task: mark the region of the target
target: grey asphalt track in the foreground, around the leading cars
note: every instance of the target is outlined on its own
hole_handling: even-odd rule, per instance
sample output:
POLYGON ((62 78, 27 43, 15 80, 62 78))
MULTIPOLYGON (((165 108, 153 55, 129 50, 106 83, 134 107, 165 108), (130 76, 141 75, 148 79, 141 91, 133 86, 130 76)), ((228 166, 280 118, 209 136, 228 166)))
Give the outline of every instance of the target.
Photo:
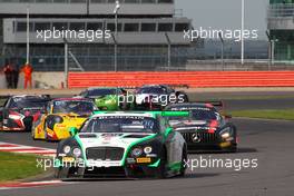
MULTIPOLYGON (((292 104, 293 106, 293 104, 292 104)), ((247 105, 247 108, 254 106, 247 105)), ((236 154, 194 154, 183 178, 143 180, 95 180, 56 186, 0 190, 0 196, 293 196, 294 194, 294 121, 233 119, 238 127, 239 150, 236 154), (206 167, 206 159, 257 159, 257 168, 206 167)), ((29 133, 1 133, 1 141, 55 148, 55 143, 32 141, 29 133)))

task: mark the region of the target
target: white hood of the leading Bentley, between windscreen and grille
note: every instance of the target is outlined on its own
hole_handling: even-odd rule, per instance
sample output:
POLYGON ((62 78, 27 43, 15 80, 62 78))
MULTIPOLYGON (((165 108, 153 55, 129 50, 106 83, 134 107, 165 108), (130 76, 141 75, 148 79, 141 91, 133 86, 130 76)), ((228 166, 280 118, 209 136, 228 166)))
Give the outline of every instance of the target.
POLYGON ((156 134, 78 134, 82 147, 120 147, 127 148, 141 139, 155 136, 156 134))

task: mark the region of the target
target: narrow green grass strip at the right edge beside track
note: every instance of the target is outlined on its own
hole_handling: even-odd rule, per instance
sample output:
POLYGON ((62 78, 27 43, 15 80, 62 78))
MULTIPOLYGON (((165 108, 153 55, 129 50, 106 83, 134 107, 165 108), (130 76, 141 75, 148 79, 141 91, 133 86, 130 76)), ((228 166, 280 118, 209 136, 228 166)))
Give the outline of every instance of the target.
POLYGON ((294 109, 239 110, 231 114, 233 117, 294 120, 294 109))

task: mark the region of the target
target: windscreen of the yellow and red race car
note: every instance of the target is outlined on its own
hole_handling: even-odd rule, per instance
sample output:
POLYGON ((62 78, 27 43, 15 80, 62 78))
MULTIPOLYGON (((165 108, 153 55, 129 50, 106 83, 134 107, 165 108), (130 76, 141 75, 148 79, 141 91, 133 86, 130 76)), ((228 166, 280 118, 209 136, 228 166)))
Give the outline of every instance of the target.
POLYGON ((95 106, 91 101, 85 100, 57 100, 53 101, 53 114, 78 114, 90 115, 95 110, 95 106))

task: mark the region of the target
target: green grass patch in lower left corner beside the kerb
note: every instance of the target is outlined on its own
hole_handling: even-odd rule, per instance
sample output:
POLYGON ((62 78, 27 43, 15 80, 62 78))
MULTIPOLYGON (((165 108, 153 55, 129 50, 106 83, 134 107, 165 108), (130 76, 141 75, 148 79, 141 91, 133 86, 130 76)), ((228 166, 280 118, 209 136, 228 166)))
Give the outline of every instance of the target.
POLYGON ((42 168, 37 168, 37 156, 0 151, 0 182, 23 179, 42 173, 42 168))

